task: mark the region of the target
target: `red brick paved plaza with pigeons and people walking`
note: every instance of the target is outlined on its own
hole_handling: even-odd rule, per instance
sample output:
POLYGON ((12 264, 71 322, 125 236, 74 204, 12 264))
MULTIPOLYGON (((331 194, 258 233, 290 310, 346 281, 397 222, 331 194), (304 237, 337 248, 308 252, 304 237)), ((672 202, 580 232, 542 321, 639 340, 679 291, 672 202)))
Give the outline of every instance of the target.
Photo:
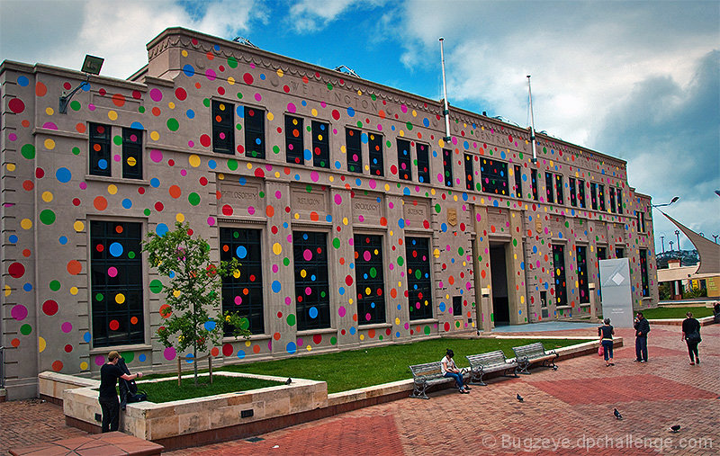
MULTIPOLYGON (((633 331, 617 333, 626 346, 616 350, 614 367, 582 356, 560 362, 558 371, 490 380, 469 395, 446 389, 429 400, 397 400, 262 434, 257 442, 166 454, 717 454, 720 325, 702 328, 695 366, 679 326, 653 326, 647 363, 634 362, 633 331)), ((542 333, 551 334, 594 336, 595 329, 542 333)), ((37 401, 0 404, 0 429, 4 449, 85 434, 64 425, 61 407, 37 401)))

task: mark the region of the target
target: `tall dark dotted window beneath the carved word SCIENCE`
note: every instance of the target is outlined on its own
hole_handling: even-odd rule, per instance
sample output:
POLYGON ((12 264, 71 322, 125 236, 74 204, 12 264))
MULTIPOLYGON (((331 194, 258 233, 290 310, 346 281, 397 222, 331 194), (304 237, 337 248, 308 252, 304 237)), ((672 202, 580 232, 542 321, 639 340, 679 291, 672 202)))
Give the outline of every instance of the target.
POLYGON ((406 237, 408 257, 408 304, 410 319, 433 317, 432 284, 430 282, 430 251, 428 237, 406 237))

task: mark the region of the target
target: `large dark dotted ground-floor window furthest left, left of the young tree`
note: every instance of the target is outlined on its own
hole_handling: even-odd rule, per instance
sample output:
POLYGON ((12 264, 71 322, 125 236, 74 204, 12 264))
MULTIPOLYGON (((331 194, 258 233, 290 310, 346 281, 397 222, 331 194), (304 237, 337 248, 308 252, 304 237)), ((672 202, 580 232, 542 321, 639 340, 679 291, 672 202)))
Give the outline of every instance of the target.
POLYGON ((141 225, 90 222, 93 345, 145 342, 141 225))

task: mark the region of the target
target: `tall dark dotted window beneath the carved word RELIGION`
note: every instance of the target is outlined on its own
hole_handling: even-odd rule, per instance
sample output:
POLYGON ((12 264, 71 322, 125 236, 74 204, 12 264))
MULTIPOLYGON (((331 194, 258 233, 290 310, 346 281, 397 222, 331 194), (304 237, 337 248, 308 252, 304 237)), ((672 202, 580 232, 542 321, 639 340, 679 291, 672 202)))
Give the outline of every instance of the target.
POLYGON ((293 231, 298 331, 330 327, 328 235, 293 231))

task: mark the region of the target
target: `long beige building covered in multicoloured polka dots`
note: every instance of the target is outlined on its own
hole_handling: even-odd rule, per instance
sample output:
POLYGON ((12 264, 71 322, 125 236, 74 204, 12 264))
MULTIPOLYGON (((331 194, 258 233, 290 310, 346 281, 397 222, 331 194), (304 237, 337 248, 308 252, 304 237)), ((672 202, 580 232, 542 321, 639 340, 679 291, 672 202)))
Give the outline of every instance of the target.
POLYGON ((184 29, 128 80, 5 61, 2 339, 8 398, 110 350, 170 371, 163 277, 140 242, 187 222, 238 257, 216 363, 489 331, 599 309, 598 260, 657 302, 650 198, 626 162, 184 29), (595 296, 591 296, 595 293, 595 296), (591 298, 594 298, 591 300, 591 298))

